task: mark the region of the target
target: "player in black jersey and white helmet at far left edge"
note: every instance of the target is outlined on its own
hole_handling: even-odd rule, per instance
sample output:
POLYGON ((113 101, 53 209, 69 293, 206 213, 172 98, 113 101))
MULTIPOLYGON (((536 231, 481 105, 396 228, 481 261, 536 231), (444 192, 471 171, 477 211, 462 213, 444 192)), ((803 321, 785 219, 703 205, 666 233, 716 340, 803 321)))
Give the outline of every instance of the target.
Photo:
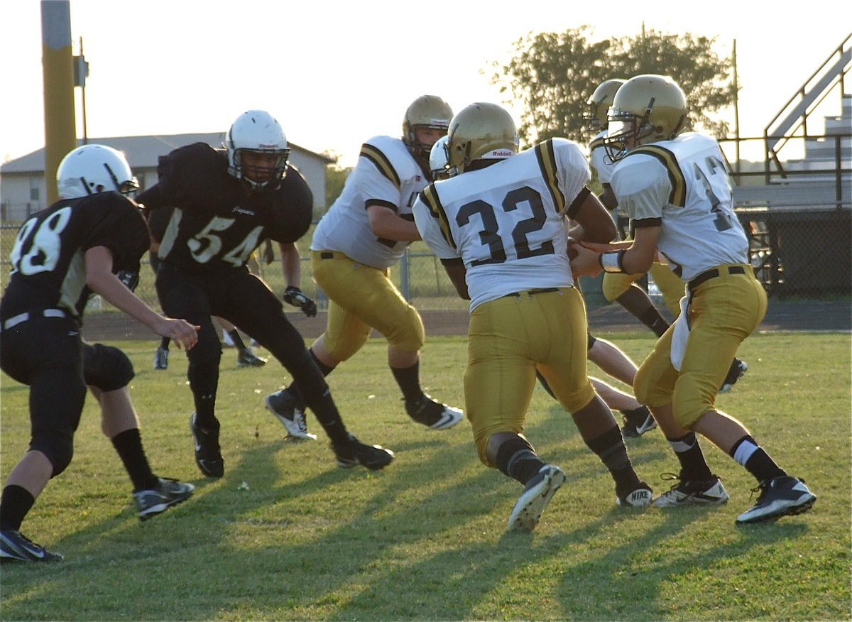
POLYGON ((0 301, 0 367, 30 385, 29 451, 15 465, 0 498, 0 559, 53 562, 62 556, 33 543, 20 524, 50 478, 72 459, 86 385, 101 405, 110 437, 134 484, 142 520, 189 498, 192 484, 153 475, 130 402, 133 366, 118 348, 80 339, 92 292, 178 345, 192 348, 193 325, 156 314, 118 279, 138 274, 148 233, 121 153, 101 145, 74 149, 57 170, 60 200, 34 214, 18 233, 9 286, 0 301))

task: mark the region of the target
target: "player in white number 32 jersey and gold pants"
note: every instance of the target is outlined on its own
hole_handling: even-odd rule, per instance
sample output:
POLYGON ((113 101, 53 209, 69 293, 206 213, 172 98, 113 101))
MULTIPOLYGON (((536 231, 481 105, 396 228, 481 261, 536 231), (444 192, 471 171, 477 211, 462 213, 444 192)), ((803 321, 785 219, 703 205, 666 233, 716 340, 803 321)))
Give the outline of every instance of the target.
POLYGON ((452 118, 447 149, 451 177, 426 187, 413 211, 423 241, 470 300, 465 408, 481 461, 524 487, 509 529, 533 530, 565 479, 522 435, 537 368, 613 475, 617 503, 648 505, 651 490, 586 374, 585 309, 563 218, 599 241, 613 239, 615 225, 585 187, 583 153, 565 139, 517 153, 515 122, 489 103, 452 118))

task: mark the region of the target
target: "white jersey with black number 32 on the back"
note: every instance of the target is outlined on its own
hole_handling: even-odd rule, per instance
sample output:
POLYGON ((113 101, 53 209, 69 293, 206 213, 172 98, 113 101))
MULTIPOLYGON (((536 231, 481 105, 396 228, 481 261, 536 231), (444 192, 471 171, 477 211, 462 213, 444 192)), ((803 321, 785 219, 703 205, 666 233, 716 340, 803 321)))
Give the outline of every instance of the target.
POLYGON ((435 255, 462 259, 471 309, 515 291, 568 287, 562 216, 589 177, 576 143, 544 141, 427 187, 415 222, 435 255))

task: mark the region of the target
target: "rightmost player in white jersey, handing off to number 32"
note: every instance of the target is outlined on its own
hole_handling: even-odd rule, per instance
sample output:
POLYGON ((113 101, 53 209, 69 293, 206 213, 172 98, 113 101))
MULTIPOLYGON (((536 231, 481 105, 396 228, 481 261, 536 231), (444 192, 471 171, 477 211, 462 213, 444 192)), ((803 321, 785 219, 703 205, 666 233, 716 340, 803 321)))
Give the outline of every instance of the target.
POLYGON ((763 320, 767 297, 734 215, 722 151, 710 136, 682 133, 687 112, 682 89, 669 77, 636 76, 616 93, 604 140, 618 163, 613 191, 635 223, 634 239, 602 254, 580 250, 577 265, 597 261, 609 273, 636 274, 659 256, 687 282, 681 314, 634 383, 681 462, 679 483, 654 505, 728 499, 700 455, 697 432, 759 482, 757 504, 737 522, 775 520, 809 510, 816 497, 715 405, 728 361, 763 320))

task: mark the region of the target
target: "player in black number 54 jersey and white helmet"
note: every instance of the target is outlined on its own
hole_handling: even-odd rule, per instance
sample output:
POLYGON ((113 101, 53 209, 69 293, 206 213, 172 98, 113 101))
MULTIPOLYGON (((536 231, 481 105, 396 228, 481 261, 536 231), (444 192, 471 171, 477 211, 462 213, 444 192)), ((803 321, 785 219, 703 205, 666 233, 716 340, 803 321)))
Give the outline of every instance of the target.
POLYGON ((174 209, 158 252, 160 304, 166 313, 201 327, 187 369, 195 404, 190 418, 195 462, 204 475, 224 474, 215 414, 222 344, 210 320, 216 315, 267 348, 291 373, 331 438, 338 465, 382 469, 393 452, 348 433, 302 335, 286 319, 279 299, 246 267, 264 239, 278 242, 290 256, 296 253, 285 299, 306 314, 314 312, 314 302, 297 287, 295 244, 310 226, 313 196, 304 177, 287 164, 284 130, 268 112, 250 110, 234 121, 225 147, 199 142, 172 151, 159 160, 157 185, 139 197, 147 210, 174 209))

